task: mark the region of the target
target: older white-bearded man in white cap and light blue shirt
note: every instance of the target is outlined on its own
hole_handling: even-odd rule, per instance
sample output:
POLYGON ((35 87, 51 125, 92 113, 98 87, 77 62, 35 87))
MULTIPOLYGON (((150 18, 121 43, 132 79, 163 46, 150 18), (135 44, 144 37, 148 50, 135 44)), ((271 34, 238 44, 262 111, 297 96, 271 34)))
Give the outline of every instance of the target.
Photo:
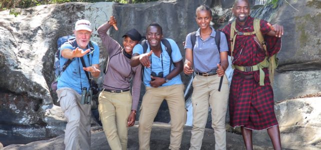
POLYGON ((56 92, 67 119, 65 149, 89 149, 91 105, 81 104, 80 99, 82 90, 90 87, 85 71, 93 77, 99 76, 99 47, 90 41, 92 29, 88 20, 78 20, 73 33, 75 39, 63 43, 60 48, 60 64, 65 64, 68 59, 71 63, 61 73, 56 92))

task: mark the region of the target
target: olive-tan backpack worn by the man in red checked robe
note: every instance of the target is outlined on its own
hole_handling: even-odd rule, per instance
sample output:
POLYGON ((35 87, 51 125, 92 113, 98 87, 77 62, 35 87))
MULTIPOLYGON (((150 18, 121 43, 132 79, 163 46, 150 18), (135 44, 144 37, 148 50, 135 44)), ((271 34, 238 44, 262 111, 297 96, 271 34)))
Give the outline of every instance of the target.
MULTIPOLYGON (((235 20, 231 23, 230 26, 230 46, 231 46, 231 56, 233 54, 233 50, 234 50, 234 43, 235 43, 235 38, 236 35, 252 35, 255 34, 255 36, 257 37, 258 41, 260 42, 260 44, 262 45, 263 49, 265 50, 265 59, 262 62, 259 62, 256 65, 253 65, 252 67, 254 68, 257 67, 257 69, 259 70, 259 85, 264 85, 264 71, 262 70, 263 67, 268 67, 268 73, 269 73, 269 80, 270 80, 270 84, 271 86, 273 86, 273 79, 274 79, 274 69, 277 67, 278 65, 278 58, 276 57, 277 53, 272 55, 272 56, 268 56, 267 55, 267 51, 266 51, 266 42, 264 41, 263 35, 260 31, 260 19, 254 18, 253 21, 253 27, 254 27, 254 31, 252 32, 239 32, 236 28, 235 28, 235 20), (236 32, 236 34, 234 35, 234 32, 236 32)), ((234 69, 235 66, 232 64, 232 68, 234 69)))

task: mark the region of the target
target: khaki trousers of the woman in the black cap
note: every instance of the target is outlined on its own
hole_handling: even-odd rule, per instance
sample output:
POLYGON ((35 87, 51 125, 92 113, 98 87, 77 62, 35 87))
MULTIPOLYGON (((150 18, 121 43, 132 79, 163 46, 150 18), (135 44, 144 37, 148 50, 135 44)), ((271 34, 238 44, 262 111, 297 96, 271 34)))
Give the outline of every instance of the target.
POLYGON ((131 111, 130 91, 114 93, 101 91, 98 111, 111 149, 127 149, 127 119, 131 111))

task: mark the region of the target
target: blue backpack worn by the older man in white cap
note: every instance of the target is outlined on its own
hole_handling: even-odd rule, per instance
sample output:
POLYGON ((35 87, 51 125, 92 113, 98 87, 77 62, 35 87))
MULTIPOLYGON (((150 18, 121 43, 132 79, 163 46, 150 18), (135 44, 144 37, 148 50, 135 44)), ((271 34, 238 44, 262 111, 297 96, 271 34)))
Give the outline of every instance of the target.
MULTIPOLYGON (((59 77, 60 77, 61 73, 67 68, 67 66, 72 61, 71 59, 68 59, 66 62, 64 62, 64 64, 62 66, 60 65, 60 61, 59 60, 60 60, 60 48, 61 48, 61 45, 63 43, 65 43, 65 42, 69 42, 72 45, 72 47, 75 47, 76 45, 74 44, 74 42, 72 42, 72 41, 74 41, 74 39, 75 39, 75 36, 73 36, 73 35, 66 35, 66 36, 63 36, 63 37, 59 37, 57 39, 57 51, 54 53, 54 63, 53 63, 55 79, 51 83, 51 88, 52 88, 53 91, 55 91, 57 89, 57 83, 58 83, 58 80, 59 80, 59 77)), ((88 44, 89 44, 89 48, 92 51, 94 48, 93 48, 93 45, 92 45, 91 41, 89 41, 88 44)), ((91 54, 91 56, 92 56, 92 54, 91 54)), ((89 82, 92 82, 92 81, 89 80, 89 82)))

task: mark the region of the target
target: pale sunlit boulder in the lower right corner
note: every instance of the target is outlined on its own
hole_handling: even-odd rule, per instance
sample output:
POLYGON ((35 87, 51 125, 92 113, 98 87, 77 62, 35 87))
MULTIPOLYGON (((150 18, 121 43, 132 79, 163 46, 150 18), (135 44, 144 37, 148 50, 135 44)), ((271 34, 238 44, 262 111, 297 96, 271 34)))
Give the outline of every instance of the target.
MULTIPOLYGON (((287 99, 275 104, 283 147, 321 149, 320 105, 321 97, 287 99)), ((253 132, 253 137, 270 142, 266 130, 253 132)))

